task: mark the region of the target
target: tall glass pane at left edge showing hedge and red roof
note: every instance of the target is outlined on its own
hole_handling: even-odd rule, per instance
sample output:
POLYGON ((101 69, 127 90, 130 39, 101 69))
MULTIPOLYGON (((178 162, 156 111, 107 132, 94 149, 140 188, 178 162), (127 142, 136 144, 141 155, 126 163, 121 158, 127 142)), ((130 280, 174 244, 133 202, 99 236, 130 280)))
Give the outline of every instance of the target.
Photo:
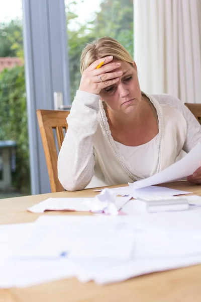
POLYGON ((0 198, 30 194, 22 0, 0 0, 0 198))

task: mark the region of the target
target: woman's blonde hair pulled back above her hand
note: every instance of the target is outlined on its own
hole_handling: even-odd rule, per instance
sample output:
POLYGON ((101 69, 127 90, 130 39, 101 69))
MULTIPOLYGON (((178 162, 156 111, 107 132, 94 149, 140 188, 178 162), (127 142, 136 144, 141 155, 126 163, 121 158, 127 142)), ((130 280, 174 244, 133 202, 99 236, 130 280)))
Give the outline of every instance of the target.
POLYGON ((86 45, 80 57, 80 72, 97 59, 113 55, 114 60, 125 61, 133 65, 129 52, 115 39, 103 37, 86 45))

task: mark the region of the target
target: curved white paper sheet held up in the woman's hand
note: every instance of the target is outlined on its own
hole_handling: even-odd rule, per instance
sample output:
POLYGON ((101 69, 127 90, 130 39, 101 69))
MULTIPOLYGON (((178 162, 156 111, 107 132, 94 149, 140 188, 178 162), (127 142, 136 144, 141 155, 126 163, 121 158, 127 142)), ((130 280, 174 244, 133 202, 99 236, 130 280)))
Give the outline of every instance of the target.
POLYGON ((147 186, 157 185, 165 182, 182 179, 201 166, 201 144, 200 142, 180 161, 166 168, 165 170, 150 176, 146 179, 129 183, 133 189, 140 189, 147 186))

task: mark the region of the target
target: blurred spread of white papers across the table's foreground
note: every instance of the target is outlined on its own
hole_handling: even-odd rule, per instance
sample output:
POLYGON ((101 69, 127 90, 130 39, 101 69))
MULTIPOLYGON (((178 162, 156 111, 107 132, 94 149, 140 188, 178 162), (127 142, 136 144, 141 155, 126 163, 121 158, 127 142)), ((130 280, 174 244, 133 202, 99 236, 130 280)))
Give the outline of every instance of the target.
MULTIPOLYGON (((138 200, 123 210, 131 202, 138 200)), ((195 206, 154 214, 136 207, 127 216, 41 216, 19 228, 0 226, 0 287, 68 277, 107 284, 201 263, 200 215, 195 206)))

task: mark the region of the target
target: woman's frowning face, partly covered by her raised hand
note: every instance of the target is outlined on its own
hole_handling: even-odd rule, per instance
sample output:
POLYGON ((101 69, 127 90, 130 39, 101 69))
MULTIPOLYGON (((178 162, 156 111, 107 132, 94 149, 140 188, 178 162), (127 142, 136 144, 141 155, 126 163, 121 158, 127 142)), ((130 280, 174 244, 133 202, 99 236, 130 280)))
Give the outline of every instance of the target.
POLYGON ((138 109, 141 101, 141 90, 135 62, 133 66, 120 61, 121 66, 115 71, 123 71, 120 80, 112 86, 102 89, 100 98, 115 113, 131 113, 138 109))

